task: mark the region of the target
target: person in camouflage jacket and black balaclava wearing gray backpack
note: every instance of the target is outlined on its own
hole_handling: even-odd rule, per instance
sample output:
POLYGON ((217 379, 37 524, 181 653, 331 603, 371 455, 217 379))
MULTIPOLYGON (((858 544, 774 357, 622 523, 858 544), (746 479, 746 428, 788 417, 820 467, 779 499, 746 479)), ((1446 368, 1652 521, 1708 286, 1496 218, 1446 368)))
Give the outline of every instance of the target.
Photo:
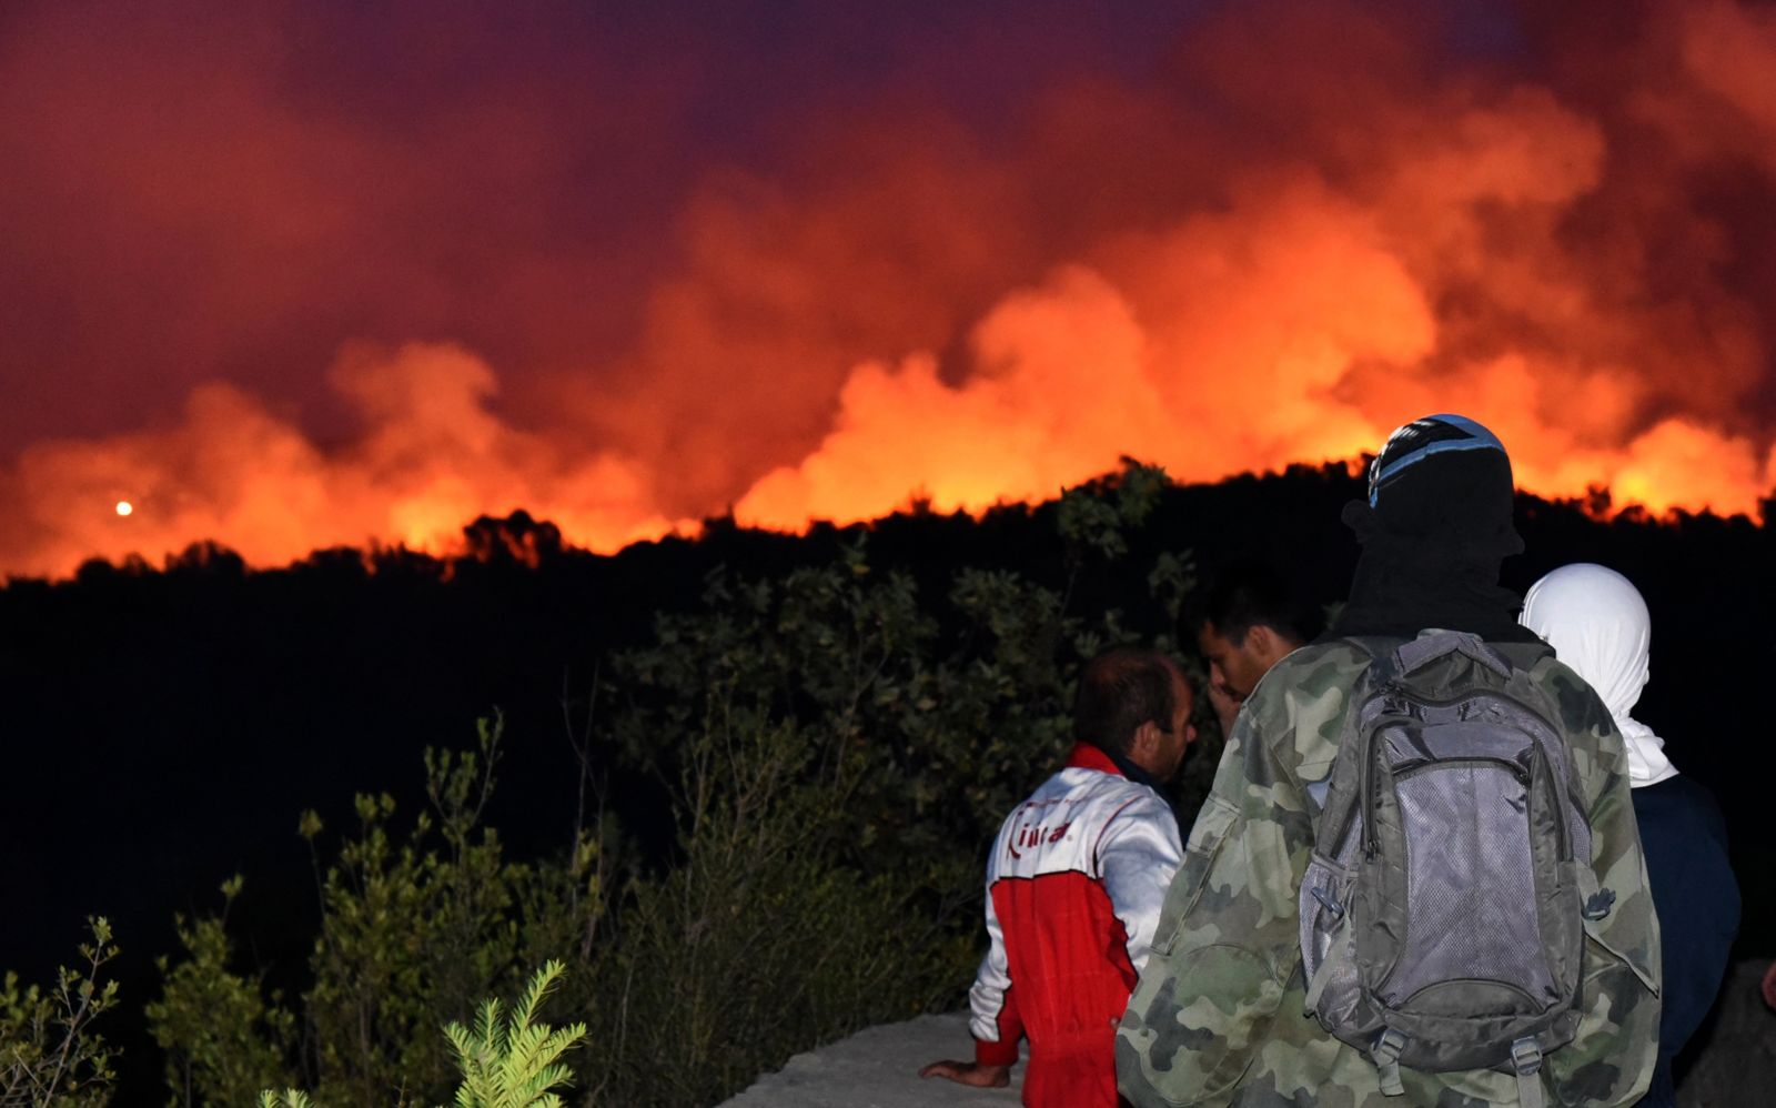
POLYGON ((1117 1030, 1140 1106, 1634 1103, 1659 927, 1609 708, 1517 623, 1511 465, 1394 431, 1330 634, 1240 710, 1117 1030))

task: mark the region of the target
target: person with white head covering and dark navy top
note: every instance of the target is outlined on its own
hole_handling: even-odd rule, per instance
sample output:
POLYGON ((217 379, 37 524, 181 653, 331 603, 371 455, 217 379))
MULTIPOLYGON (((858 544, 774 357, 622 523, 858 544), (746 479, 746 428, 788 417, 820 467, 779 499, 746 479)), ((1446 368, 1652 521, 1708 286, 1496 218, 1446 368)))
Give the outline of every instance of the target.
POLYGON ((1659 1067, 1641 1104, 1675 1108, 1671 1060, 1714 1007, 1739 930, 1726 820, 1714 794, 1680 776, 1664 740, 1632 716, 1650 675, 1652 618, 1627 577, 1591 563, 1561 566, 1524 597, 1522 623, 1597 689, 1627 744, 1664 962, 1659 1067))

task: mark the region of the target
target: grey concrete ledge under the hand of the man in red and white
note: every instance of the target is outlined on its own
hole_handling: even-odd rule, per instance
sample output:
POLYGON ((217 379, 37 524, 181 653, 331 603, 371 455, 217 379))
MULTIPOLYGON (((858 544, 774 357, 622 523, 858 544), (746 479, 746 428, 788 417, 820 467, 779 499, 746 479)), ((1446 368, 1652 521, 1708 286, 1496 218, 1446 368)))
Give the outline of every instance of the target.
POLYGON ((1007 1088, 970 1088, 955 1081, 920 1080, 918 1069, 938 1058, 973 1058, 968 1017, 920 1016, 858 1032, 765 1074, 721 1108, 1018 1108, 1023 1064, 1007 1088))

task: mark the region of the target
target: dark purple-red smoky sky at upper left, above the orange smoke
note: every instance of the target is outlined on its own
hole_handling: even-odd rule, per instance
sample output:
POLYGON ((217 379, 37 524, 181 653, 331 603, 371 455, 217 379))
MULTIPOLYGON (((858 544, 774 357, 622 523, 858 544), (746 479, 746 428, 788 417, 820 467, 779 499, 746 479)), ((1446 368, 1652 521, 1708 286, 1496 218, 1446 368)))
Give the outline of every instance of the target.
MULTIPOLYGON (((156 4, 0 11, 0 453, 226 378, 325 435, 348 339, 455 339, 522 385, 634 339, 693 192, 810 135, 982 140, 1140 76, 1176 4, 156 4)), ((517 389, 522 394, 522 387, 517 389)))

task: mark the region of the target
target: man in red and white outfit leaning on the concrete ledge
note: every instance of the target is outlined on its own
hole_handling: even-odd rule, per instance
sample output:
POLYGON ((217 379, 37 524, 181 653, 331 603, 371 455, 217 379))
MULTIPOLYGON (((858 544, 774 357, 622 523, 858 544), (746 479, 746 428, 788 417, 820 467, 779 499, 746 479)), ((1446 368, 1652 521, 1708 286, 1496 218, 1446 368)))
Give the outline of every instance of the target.
POLYGON ((1005 817, 987 859, 975 1060, 920 1076, 1005 1085, 1023 1037, 1025 1104, 1115 1108, 1115 1025, 1183 854, 1158 787, 1195 739, 1190 708, 1163 653, 1117 648, 1087 664, 1066 767, 1005 817))

